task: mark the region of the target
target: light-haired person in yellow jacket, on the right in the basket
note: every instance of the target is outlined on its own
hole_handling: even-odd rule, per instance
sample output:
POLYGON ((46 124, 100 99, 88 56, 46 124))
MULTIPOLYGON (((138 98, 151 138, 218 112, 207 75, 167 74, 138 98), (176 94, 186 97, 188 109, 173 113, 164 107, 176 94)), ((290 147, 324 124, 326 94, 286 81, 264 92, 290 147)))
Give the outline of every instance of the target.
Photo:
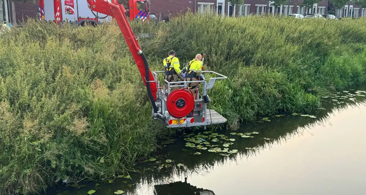
MULTIPOLYGON (((202 56, 197 54, 196 57, 188 63, 187 73, 184 75, 185 81, 198 81, 202 77, 202 56)), ((197 99, 198 83, 189 83, 188 87, 194 92, 194 99, 197 99)))

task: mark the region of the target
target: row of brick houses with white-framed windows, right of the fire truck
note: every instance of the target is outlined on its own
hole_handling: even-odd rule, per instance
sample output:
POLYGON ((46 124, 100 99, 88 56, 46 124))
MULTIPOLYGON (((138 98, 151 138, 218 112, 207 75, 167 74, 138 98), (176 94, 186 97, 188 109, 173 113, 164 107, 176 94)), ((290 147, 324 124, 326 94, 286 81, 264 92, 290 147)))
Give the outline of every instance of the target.
MULTIPOLYGON (((207 9, 211 9, 216 12, 217 15, 226 16, 247 16, 249 14, 262 15, 262 14, 325 14, 327 1, 323 0, 313 5, 312 8, 305 9, 300 7, 299 4, 303 0, 291 0, 289 4, 283 4, 279 7, 274 7, 272 1, 266 0, 244 0, 243 5, 231 5, 227 0, 150 0, 151 10, 150 12, 156 14, 161 19, 168 19, 168 15, 177 15, 181 11, 184 13, 189 9, 195 12, 203 12, 207 9), (289 10, 290 9, 290 10, 289 10)), ((328 1, 328 8, 331 6, 328 1)), ((366 16, 365 8, 361 8, 359 5, 351 2, 350 9, 348 10, 348 4, 343 8, 336 9, 336 16, 359 18, 366 16)))

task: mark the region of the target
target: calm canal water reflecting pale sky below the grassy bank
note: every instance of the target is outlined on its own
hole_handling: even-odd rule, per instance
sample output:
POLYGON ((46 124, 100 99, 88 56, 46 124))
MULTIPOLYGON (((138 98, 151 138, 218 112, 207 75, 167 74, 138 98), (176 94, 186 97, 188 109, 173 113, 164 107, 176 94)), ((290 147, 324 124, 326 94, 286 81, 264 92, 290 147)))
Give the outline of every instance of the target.
POLYGON ((325 110, 313 114, 317 118, 270 117, 270 122, 246 125, 234 131, 258 132, 252 134, 253 138, 231 135, 226 130, 214 132, 234 138, 235 141, 225 141, 218 137, 220 141, 234 143, 229 147, 204 138, 211 145, 219 145, 213 148, 238 150, 229 156, 186 147, 187 141, 180 135, 156 157, 160 164, 171 167, 158 169, 160 164, 155 161, 143 162, 138 166, 145 169, 144 173, 130 173, 132 179, 119 178, 110 184, 99 183, 99 186, 84 183, 86 186, 80 189, 61 185, 50 188, 46 194, 87 194, 89 190, 96 190, 94 195, 114 194, 117 190, 127 195, 154 195, 154 190, 159 191, 156 195, 194 195, 195 190, 210 190, 212 192, 207 194, 215 195, 365 194, 366 103, 363 95, 366 92, 352 90, 349 93, 355 96, 339 99, 349 95, 342 92, 325 98, 325 110), (191 154, 194 152, 201 154, 191 154), (174 162, 166 163, 167 159, 174 162), (178 163, 184 166, 178 168, 178 163))

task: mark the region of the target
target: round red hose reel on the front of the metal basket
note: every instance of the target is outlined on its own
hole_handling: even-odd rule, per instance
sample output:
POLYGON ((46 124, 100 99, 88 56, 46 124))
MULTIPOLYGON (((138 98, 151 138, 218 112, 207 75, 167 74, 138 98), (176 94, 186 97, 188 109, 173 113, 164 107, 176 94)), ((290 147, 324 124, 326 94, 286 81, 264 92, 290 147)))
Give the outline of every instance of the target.
POLYGON ((174 118, 183 118, 194 108, 193 92, 188 88, 175 89, 167 98, 167 110, 174 118))

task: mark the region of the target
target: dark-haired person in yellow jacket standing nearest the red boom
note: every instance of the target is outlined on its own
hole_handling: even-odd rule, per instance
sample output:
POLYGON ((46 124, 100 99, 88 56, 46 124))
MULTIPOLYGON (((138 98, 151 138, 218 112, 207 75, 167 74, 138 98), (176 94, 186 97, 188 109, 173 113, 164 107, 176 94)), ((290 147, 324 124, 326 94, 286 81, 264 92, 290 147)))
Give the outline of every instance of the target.
MULTIPOLYGON (((169 56, 167 58, 164 58, 163 64, 165 67, 165 80, 168 82, 176 82, 178 81, 178 74, 182 72, 179 68, 179 60, 177 57, 175 57, 175 51, 171 50, 169 51, 169 56)), ((171 85, 177 85, 177 84, 171 84, 171 85)), ((164 82, 164 88, 165 90, 168 90, 168 84, 164 82)), ((178 87, 172 87, 172 89, 178 89, 178 87)))

